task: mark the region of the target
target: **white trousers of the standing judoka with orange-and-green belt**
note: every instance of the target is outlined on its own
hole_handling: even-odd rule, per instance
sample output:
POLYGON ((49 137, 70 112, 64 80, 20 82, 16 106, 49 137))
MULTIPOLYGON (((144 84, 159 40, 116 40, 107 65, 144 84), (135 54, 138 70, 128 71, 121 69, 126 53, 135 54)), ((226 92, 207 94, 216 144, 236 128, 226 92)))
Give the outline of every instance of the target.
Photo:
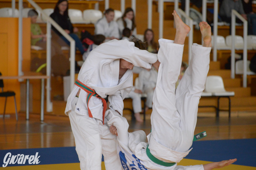
POLYGON ((80 168, 100 170, 101 158, 104 156, 106 170, 121 170, 122 165, 116 151, 116 135, 103 125, 101 120, 77 114, 74 110, 78 98, 71 102, 68 112, 80 168))

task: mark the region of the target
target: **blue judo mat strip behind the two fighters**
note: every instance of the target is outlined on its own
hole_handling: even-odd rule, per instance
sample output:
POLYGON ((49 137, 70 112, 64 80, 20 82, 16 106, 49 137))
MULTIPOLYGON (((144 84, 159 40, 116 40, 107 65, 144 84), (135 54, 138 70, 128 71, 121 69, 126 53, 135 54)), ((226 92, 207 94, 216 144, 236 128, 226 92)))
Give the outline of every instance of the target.
MULTIPOLYGON (((256 167, 256 139, 195 141, 192 147, 193 149, 185 157, 186 159, 218 162, 237 158, 234 164, 256 167)), ((1 165, 4 164, 4 158, 7 153, 11 153, 11 155, 36 155, 36 152, 40 156, 38 157, 40 161, 38 165, 79 162, 75 147, 59 147, 0 150, 1 165)), ((8 157, 9 154, 5 161, 7 161, 8 157)), ((103 157, 102 161, 104 161, 103 157)), ((24 165, 29 165, 28 160, 25 164, 18 164, 17 162, 8 164, 8 166, 24 165)))

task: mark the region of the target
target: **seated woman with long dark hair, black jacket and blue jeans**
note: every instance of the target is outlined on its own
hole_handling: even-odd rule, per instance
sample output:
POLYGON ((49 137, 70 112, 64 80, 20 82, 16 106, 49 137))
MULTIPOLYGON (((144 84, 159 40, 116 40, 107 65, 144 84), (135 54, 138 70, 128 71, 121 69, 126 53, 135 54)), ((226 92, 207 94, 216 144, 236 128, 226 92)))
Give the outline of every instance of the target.
MULTIPOLYGON (((68 1, 67 0, 59 0, 54 8, 54 12, 50 15, 50 17, 57 22, 57 24, 70 35, 75 40, 76 47, 80 51, 80 53, 83 55, 83 53, 86 51, 85 48, 82 45, 82 42, 78 38, 78 36, 75 34, 78 32, 78 28, 73 27, 69 16, 68 16, 68 1)), ((52 26, 52 30, 56 32, 61 39, 63 39, 68 45, 70 45, 70 42, 56 29, 52 26)))

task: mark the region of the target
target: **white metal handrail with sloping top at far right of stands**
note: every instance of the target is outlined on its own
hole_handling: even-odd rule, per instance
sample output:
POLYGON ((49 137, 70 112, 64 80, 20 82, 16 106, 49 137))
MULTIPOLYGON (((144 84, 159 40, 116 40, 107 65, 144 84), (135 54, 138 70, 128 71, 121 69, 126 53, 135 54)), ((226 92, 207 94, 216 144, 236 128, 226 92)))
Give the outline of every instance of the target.
POLYGON ((243 87, 247 87, 247 20, 244 19, 236 10, 231 13, 231 78, 235 78, 235 35, 236 35, 236 17, 243 22, 243 87))

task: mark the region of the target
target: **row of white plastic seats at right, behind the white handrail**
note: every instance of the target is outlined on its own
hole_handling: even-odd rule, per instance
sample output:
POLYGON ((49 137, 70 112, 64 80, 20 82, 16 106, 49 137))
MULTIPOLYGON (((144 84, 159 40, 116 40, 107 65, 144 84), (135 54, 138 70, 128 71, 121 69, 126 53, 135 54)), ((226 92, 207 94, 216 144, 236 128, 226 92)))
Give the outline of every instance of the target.
MULTIPOLYGON (((214 36, 211 36, 212 47, 214 45, 214 36)), ((243 50, 244 40, 240 35, 235 35, 235 49, 243 50)), ((217 50, 231 50, 232 47, 232 35, 228 35, 226 39, 217 35, 217 50)), ((256 35, 248 35, 247 36, 247 49, 248 50, 256 50, 256 35)))

